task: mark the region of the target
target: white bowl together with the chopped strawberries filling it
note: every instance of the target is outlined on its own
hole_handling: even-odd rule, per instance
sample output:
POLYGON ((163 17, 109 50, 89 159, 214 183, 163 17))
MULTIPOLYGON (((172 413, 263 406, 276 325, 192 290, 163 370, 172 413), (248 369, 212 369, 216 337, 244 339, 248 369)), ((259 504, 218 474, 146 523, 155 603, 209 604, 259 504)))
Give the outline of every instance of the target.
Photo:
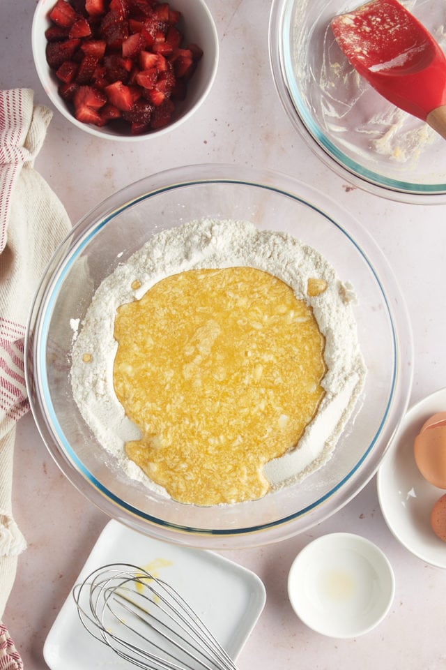
POLYGON ((203 0, 40 0, 32 48, 63 116, 127 142, 189 119, 212 87, 219 54, 203 0))

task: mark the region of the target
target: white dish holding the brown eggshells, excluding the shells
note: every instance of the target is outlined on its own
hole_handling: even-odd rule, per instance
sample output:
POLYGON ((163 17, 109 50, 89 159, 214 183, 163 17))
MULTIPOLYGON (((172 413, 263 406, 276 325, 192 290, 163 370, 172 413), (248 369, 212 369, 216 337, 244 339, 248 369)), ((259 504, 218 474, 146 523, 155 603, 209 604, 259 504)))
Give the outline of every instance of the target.
POLYGON ((431 509, 443 489, 426 482, 413 455, 413 442, 426 419, 446 410, 446 389, 413 405, 390 442, 378 470, 378 499, 387 526, 403 546, 430 565, 446 568, 446 543, 431 529, 431 509))

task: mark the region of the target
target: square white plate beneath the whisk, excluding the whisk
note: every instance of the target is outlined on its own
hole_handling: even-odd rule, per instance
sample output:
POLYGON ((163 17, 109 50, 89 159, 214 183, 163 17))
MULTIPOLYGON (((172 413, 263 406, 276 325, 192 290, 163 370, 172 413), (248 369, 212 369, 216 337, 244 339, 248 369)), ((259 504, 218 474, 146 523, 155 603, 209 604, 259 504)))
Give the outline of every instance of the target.
MULTIPOLYGON (((174 586, 236 659, 265 605, 265 587, 254 572, 210 551, 160 542, 109 521, 76 583, 95 568, 121 562, 145 567, 174 586)), ((71 593, 49 631, 43 655, 51 670, 134 669, 85 630, 71 593)))

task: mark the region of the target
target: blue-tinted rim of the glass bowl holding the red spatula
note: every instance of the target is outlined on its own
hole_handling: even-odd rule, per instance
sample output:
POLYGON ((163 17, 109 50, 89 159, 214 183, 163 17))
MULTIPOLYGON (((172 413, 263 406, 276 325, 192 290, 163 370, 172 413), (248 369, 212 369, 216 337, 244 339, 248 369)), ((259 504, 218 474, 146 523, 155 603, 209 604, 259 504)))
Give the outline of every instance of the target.
MULTIPOLYGON (((390 177, 382 177, 380 174, 373 172, 373 170, 367 170, 367 168, 364 168, 360 163, 348 158, 346 154, 324 135, 321 128, 314 122, 312 115, 309 114, 295 81, 291 50, 289 48, 291 46, 289 43, 289 36, 291 34, 293 6, 294 1, 273 0, 270 15, 270 59, 279 97, 281 98, 282 104, 284 105, 286 112, 289 114, 291 121, 297 126, 300 133, 302 134, 302 130, 305 130, 305 138, 308 139, 308 137, 311 137, 312 140, 318 144, 318 147, 322 149, 325 156, 336 163, 338 171, 346 170, 352 177, 356 179, 359 178, 358 181, 366 181, 370 186, 378 187, 379 191, 381 191, 380 195, 383 195, 382 189, 385 189, 386 191, 393 191, 395 194, 394 197, 397 197, 397 194, 400 194, 401 197, 413 196, 414 198, 420 195, 445 196, 446 183, 416 184, 411 181, 399 181, 398 179, 391 179, 390 177), (275 13, 277 13, 276 17, 274 17, 275 13), (277 56, 279 58, 278 64, 276 62, 277 56), (283 77, 282 84, 286 89, 286 100, 284 100, 284 96, 281 95, 281 91, 279 90, 280 82, 277 81, 277 77, 279 76, 277 68, 280 71, 280 75, 283 77), (298 114, 300 123, 303 126, 302 128, 300 124, 296 123, 297 119, 295 118, 295 114, 298 114)), ((312 149, 314 149, 313 146, 312 149)))

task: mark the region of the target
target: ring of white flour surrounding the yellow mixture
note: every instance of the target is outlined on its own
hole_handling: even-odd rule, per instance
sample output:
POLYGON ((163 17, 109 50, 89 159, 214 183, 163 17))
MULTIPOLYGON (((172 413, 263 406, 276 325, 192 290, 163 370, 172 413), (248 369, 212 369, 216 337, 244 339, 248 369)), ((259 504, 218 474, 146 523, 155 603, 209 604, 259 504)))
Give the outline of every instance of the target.
POLYGON ((267 463, 272 489, 303 479, 330 459, 360 396, 366 368, 353 315, 355 296, 314 248, 289 234, 259 231, 245 221, 192 221, 166 230, 116 267, 93 296, 72 347, 72 393, 95 438, 132 478, 167 496, 125 455, 125 442, 141 438, 125 416, 113 386, 118 306, 140 299, 161 279, 199 268, 248 266, 276 276, 309 304, 325 337, 325 395, 298 445, 267 463), (307 295, 309 278, 323 279, 320 295, 307 295), (132 288, 132 285, 134 288, 132 288), (85 355, 91 357, 88 364, 85 355))

